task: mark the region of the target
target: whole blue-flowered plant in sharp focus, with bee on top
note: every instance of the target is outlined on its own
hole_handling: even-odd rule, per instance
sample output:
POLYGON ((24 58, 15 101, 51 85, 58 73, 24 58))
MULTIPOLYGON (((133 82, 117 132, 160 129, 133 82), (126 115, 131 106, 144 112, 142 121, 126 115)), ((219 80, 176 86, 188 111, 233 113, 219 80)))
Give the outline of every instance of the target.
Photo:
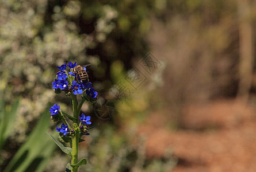
POLYGON ((77 62, 74 64, 68 62, 68 65, 65 63, 58 67, 58 69, 60 71, 57 72, 56 79, 52 82, 52 88, 55 93, 64 92, 67 97, 71 97, 73 116, 60 110, 58 104, 54 104, 49 109, 49 112, 51 112, 51 119, 54 122, 62 120, 62 125, 56 127, 56 131, 59 132, 59 140, 70 143, 70 147, 64 146, 59 140, 55 139, 54 136, 49 136, 51 136, 64 153, 71 156, 71 164, 68 163, 66 168, 67 170, 75 172, 78 170, 79 166, 86 164, 85 158, 78 162, 78 143, 84 141, 81 139, 83 135, 89 135, 89 130, 97 126, 89 127, 91 124, 90 116, 85 116, 85 114, 79 116, 81 107, 85 101, 95 103, 98 93, 94 90, 89 81, 86 68, 77 65, 77 62), (69 71, 67 67, 70 69, 69 71), (79 104, 77 95, 82 95, 82 100, 79 104), (66 118, 72 121, 72 126, 70 126, 66 118))

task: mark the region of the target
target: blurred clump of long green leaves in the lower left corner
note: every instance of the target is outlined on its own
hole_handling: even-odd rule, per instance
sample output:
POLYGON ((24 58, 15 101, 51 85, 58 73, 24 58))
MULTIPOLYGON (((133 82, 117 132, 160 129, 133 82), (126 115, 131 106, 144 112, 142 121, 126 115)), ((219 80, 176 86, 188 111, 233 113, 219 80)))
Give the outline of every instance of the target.
MULTIPOLYGON (((28 139, 17 152, 9 148, 9 136, 13 132, 13 124, 17 117, 19 100, 12 105, 0 102, 0 149, 1 149, 1 171, 44 171, 49 159, 54 153, 56 145, 47 138, 46 131, 49 130, 48 107, 41 114, 41 118, 28 139), (12 157, 13 156, 13 157, 12 157), (10 159, 11 158, 11 159, 10 159)), ((56 135, 56 134, 55 134, 56 135)))

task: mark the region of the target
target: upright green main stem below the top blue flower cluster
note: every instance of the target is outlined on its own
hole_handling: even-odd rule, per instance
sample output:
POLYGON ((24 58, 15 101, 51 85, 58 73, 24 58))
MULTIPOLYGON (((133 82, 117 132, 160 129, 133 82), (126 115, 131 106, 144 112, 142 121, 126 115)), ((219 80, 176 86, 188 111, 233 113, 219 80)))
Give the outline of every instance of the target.
MULTIPOLYGON (((78 126, 78 108, 77 108, 77 96, 71 93, 72 97, 72 105, 73 105, 73 115, 76 119, 73 120, 74 123, 78 126)), ((74 128, 75 135, 72 137, 72 156, 71 156, 71 164, 76 164, 78 160, 78 143, 79 143, 79 130, 78 128, 74 128)), ((78 167, 72 167, 71 172, 77 172, 78 167)))

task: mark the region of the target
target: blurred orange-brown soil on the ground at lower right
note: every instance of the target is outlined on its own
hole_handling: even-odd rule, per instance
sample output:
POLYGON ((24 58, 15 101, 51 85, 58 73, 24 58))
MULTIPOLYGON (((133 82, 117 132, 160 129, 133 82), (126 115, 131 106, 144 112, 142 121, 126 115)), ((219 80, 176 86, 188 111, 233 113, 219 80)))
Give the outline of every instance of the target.
POLYGON ((152 131, 156 120, 152 117, 138 131, 148 135, 148 157, 163 157, 166 150, 173 151, 178 158, 175 172, 256 171, 254 114, 249 105, 218 100, 184 108, 181 121, 185 129, 158 127, 152 131))

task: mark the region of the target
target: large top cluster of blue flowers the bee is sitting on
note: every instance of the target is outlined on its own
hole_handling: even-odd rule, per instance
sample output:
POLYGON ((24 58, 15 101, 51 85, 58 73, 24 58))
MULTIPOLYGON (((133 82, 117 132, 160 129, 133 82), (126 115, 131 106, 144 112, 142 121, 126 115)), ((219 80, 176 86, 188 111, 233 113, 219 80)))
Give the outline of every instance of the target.
MULTIPOLYGON (((72 62, 68 62, 68 65, 65 63, 58 67, 60 71, 57 72, 57 79, 52 82, 52 88, 55 89, 56 92, 64 91, 67 96, 69 96, 71 92, 74 95, 77 95, 82 94, 85 91, 87 96, 91 99, 95 99, 98 92, 94 90, 88 79, 86 80, 87 82, 82 82, 82 80, 79 79, 78 73, 74 70, 77 66, 77 62, 74 64, 72 62), (70 68, 70 72, 67 71, 67 67, 70 68)), ((86 71, 85 67, 82 69, 86 71)))

